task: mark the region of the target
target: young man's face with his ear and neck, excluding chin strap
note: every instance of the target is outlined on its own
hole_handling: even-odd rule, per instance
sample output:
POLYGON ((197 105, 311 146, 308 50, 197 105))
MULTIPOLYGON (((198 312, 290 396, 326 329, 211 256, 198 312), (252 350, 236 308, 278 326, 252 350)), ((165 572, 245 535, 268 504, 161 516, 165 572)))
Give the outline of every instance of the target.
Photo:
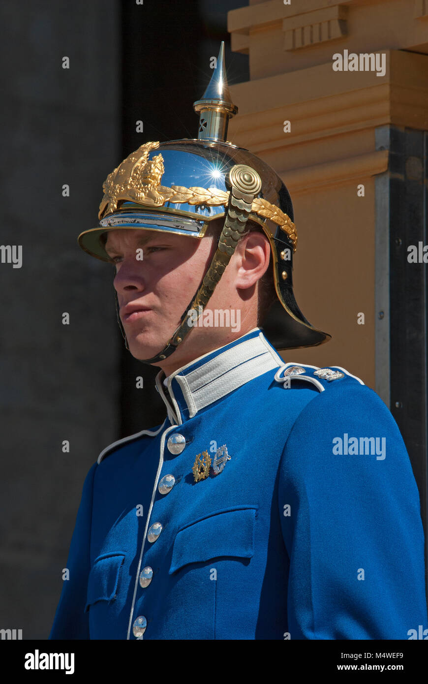
MULTIPOLYGON (((253 236, 252 241, 260 242, 260 237, 253 236)), ((190 308, 216 247, 217 241, 212 237, 198 239, 133 229, 107 233, 105 250, 116 263, 114 287, 120 320, 135 358, 152 358, 163 350, 178 328, 183 312, 190 308), (137 259, 138 250, 139 254, 142 250, 142 260, 137 259)), ((244 250, 244 267, 240 252, 235 252, 226 267, 206 309, 243 308, 245 329, 236 333, 230 328, 194 326, 170 357, 155 364, 166 375, 256 326, 254 282, 260 277, 260 257, 264 262, 266 250, 263 252, 259 244, 244 250), (242 295, 237 285, 242 288, 242 295)), ((262 266, 262 270, 266 267, 262 266)))

